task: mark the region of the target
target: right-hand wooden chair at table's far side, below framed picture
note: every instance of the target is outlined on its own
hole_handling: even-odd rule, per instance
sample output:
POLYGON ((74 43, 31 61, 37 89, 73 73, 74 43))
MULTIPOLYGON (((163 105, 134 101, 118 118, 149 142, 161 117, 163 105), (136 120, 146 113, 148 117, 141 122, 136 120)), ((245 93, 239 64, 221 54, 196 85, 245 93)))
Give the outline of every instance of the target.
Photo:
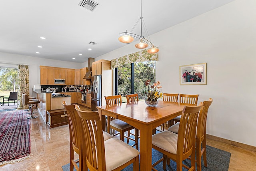
MULTIPOLYGON (((194 104, 197 105, 198 94, 196 95, 189 95, 189 94, 180 94, 180 103, 187 103, 187 104, 194 104)), ((172 123, 170 125, 174 125, 174 122, 180 122, 180 116, 175 117, 172 119, 172 123)))

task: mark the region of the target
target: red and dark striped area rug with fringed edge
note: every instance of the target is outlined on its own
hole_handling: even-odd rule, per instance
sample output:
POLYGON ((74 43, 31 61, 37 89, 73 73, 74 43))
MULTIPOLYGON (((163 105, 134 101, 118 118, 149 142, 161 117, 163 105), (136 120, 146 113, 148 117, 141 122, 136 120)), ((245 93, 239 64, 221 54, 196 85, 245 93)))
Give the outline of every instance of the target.
POLYGON ((0 111, 0 165, 29 158, 30 119, 28 111, 0 111))

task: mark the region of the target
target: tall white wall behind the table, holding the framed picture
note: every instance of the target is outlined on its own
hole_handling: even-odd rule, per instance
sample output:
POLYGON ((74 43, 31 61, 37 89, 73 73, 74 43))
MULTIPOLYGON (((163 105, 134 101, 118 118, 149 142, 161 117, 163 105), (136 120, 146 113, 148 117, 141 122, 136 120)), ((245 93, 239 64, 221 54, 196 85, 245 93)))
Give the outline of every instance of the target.
MULTIPOLYGON (((255 0, 236 0, 150 36, 160 49, 156 80, 161 82, 162 91, 199 94, 198 101, 211 97, 206 133, 253 146, 256 146, 255 8, 255 0), (207 85, 179 84, 179 66, 205 62, 207 85)), ((137 52, 134 44, 95 60, 112 60, 137 52)))

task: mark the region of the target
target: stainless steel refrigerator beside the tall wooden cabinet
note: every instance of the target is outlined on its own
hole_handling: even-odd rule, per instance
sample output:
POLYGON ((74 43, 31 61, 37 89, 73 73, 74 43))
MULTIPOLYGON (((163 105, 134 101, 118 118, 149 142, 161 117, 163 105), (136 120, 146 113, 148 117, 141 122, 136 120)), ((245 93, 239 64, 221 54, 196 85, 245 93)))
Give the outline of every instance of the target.
POLYGON ((98 111, 96 106, 101 106, 101 76, 92 76, 92 99, 91 99, 91 108, 92 111, 98 111))

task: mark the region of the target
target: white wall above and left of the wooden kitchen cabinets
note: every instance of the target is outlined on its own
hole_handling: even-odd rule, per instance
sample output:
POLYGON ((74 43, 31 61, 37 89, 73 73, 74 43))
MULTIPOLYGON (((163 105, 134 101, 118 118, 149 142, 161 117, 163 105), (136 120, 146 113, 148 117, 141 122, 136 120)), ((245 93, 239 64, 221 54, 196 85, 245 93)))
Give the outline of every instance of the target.
POLYGON ((17 54, 8 54, 0 52, 0 67, 15 67, 18 64, 26 64, 29 68, 29 90, 32 93, 32 88, 35 84, 40 84, 40 68, 39 66, 52 66, 60 68, 82 68, 80 63, 64 62, 58 60, 50 60, 45 58, 36 58, 31 56, 23 56, 17 54))

